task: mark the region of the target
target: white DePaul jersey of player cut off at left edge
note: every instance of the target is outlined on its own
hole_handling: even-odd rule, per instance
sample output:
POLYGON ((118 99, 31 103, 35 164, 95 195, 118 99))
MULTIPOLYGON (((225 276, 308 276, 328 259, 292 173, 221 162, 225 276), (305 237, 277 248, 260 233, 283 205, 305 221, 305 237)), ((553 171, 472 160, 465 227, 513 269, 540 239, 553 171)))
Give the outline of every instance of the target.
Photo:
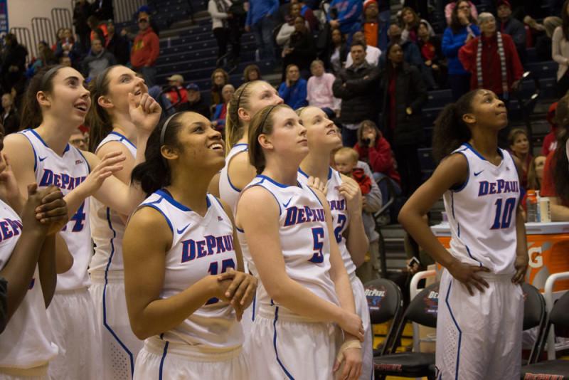
MULTIPOLYGON (((22 222, 18 214, 0 200, 0 270, 10 259, 21 231, 22 222)), ((30 369, 46 364, 57 354, 58 347, 51 342, 51 329, 36 264, 28 292, 2 332, 0 367, 30 369)))

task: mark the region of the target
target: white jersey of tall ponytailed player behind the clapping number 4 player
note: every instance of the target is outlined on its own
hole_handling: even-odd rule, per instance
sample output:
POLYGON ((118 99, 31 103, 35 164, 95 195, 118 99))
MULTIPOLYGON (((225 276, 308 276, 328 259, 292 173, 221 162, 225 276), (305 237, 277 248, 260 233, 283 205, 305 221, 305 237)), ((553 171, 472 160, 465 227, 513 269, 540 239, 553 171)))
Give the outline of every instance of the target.
MULTIPOLYGON (((97 146, 100 149, 107 142, 120 142, 129 149, 132 157, 137 157, 137 147, 117 132, 110 132, 97 146)), ((96 152, 96 151, 95 151, 96 152)), ((122 263, 122 237, 124 236, 124 222, 119 213, 90 197, 91 201, 91 236, 95 243, 95 255, 91 259, 90 271, 124 270, 122 263)))

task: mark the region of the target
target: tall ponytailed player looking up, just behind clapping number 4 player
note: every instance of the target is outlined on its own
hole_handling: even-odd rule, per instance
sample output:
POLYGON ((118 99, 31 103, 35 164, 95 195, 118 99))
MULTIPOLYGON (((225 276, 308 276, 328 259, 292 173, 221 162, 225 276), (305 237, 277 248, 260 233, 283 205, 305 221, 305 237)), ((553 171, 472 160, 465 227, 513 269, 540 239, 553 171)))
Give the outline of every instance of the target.
MULTIPOLYGON (((128 95, 148 93, 144 80, 134 71, 116 65, 104 70, 90 83, 90 150, 102 159, 111 152, 121 152, 126 159, 115 172, 124 184, 130 183, 137 157, 138 129, 129 113, 128 95)), ((90 199, 91 236, 95 255, 90 263, 92 284, 89 291, 95 301, 97 322, 102 338, 102 379, 132 379, 134 359, 144 342, 132 329, 124 297, 122 237, 127 216, 90 199)))

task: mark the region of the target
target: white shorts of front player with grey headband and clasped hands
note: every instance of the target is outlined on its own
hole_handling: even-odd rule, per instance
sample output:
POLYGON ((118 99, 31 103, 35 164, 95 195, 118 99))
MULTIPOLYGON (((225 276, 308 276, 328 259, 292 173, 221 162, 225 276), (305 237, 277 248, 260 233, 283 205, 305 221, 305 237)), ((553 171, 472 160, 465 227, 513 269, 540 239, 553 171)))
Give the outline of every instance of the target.
POLYGON ((232 379, 249 380, 248 359, 245 353, 237 349, 216 350, 202 349, 199 352, 188 346, 166 342, 151 337, 144 342, 144 347, 134 366, 135 380, 203 380, 232 379))

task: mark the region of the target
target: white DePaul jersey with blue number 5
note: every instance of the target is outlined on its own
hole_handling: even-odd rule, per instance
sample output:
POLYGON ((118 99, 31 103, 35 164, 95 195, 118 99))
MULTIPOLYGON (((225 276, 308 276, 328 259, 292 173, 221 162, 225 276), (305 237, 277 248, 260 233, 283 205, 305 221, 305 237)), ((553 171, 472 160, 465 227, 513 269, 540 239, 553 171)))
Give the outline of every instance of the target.
MULTIPOLYGON (((287 275, 324 300, 339 305, 334 282, 330 278, 330 243, 328 226, 322 204, 312 189, 301 183, 297 186, 279 184, 268 176, 258 175, 245 189, 261 186, 272 194, 279 206, 279 236, 287 275)), ((243 190, 245 191, 245 190, 243 190)), ((238 229, 240 241, 245 232, 238 229)), ((247 250, 249 270, 257 276, 255 263, 247 250)), ((273 302, 259 281, 259 307, 281 306, 273 302)))

